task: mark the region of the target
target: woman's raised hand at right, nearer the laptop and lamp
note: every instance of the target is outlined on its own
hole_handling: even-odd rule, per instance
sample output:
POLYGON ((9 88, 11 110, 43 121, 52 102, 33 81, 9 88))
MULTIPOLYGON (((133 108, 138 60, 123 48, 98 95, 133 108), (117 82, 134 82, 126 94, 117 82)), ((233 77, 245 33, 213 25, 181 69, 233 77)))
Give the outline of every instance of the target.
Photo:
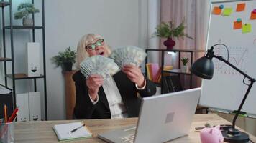
POLYGON ((126 65, 123 66, 122 71, 127 74, 127 77, 137 84, 138 87, 143 87, 145 85, 145 79, 144 76, 142 75, 142 71, 140 70, 139 67, 137 66, 132 66, 132 65, 126 65))

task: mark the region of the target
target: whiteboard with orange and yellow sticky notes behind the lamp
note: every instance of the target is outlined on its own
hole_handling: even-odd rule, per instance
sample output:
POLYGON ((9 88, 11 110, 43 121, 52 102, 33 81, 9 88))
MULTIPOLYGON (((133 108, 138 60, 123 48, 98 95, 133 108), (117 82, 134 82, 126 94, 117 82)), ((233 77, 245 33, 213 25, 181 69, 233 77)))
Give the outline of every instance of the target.
MULTIPOLYGON (((227 45, 229 62, 250 77, 256 78, 256 19, 250 19, 251 12, 256 9, 256 0, 214 1, 210 4, 206 49, 219 43, 227 45), (243 3, 244 11, 237 12, 237 4, 243 3), (219 7, 221 4, 224 9, 232 8, 229 16, 222 15, 224 9, 221 9, 220 15, 218 11, 214 11, 214 7, 219 7), (243 33, 242 29, 234 29, 234 21, 237 21, 237 18, 242 19, 242 24, 251 24, 251 31, 243 33)), ((227 59, 227 50, 224 46, 214 46, 214 54, 227 59)), ((213 61, 214 77, 211 80, 203 79, 199 104, 228 112, 237 110, 248 87, 243 84, 244 77, 224 62, 218 59, 213 61)), ((250 83, 247 79, 245 82, 250 83)), ((242 111, 253 117, 256 116, 256 83, 252 86, 242 111)))

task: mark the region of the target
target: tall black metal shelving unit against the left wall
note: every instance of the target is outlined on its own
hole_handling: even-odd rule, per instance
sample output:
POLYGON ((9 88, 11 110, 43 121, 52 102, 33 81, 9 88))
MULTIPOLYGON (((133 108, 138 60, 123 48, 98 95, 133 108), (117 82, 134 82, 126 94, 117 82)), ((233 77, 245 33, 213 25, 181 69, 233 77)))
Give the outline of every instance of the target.
MULTIPOLYGON (((43 79, 44 81, 44 97, 45 97, 45 120, 47 120, 47 89, 46 89, 46 69, 45 69, 45 1, 42 1, 42 26, 14 26, 12 23, 12 0, 9 0, 9 2, 1 0, 0 1, 0 7, 2 9, 2 27, 3 27, 3 49, 4 49, 4 57, 0 57, 0 61, 4 62, 4 82, 5 87, 12 89, 12 98, 13 98, 13 106, 16 107, 16 85, 15 81, 20 79, 33 79, 34 80, 34 90, 37 92, 37 79, 43 79), (4 7, 9 6, 9 25, 5 24, 5 14, 4 14, 4 7), (28 30, 32 31, 32 42, 35 42, 35 29, 42 29, 42 58, 43 58, 43 74, 37 77, 27 77, 26 74, 15 73, 14 70, 14 30, 28 30), (6 57, 6 31, 10 32, 10 48, 11 48, 11 56, 12 57, 6 57), (12 73, 7 74, 6 71, 6 64, 7 62, 10 62, 12 64, 12 73), (12 79, 12 88, 7 86, 7 78, 12 79)), ((32 4, 34 4, 34 0, 32 0, 32 4)), ((32 14, 32 19, 35 24, 35 16, 32 14)))

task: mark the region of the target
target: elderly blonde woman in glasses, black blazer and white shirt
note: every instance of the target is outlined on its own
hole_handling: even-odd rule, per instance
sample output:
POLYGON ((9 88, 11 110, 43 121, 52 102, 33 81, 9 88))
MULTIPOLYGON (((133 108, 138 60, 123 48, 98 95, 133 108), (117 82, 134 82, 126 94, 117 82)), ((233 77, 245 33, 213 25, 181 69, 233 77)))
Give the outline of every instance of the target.
MULTIPOLYGON (((77 48, 77 68, 83 59, 111 54, 109 46, 102 36, 87 34, 81 38, 77 48)), ((81 71, 73 75, 76 82, 76 119, 102 119, 138 117, 141 97, 156 92, 155 84, 142 75, 139 67, 127 65, 113 77, 103 79, 93 74, 86 79, 81 71)))

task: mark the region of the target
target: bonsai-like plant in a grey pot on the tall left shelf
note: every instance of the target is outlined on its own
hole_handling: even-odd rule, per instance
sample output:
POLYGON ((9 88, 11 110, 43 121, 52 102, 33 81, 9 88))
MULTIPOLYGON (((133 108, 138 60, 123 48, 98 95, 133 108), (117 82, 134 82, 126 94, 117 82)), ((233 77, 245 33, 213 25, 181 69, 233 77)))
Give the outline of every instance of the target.
POLYGON ((33 4, 22 3, 18 6, 18 11, 14 14, 14 19, 22 19, 23 26, 33 26, 34 22, 29 14, 35 14, 39 9, 35 9, 33 4))

